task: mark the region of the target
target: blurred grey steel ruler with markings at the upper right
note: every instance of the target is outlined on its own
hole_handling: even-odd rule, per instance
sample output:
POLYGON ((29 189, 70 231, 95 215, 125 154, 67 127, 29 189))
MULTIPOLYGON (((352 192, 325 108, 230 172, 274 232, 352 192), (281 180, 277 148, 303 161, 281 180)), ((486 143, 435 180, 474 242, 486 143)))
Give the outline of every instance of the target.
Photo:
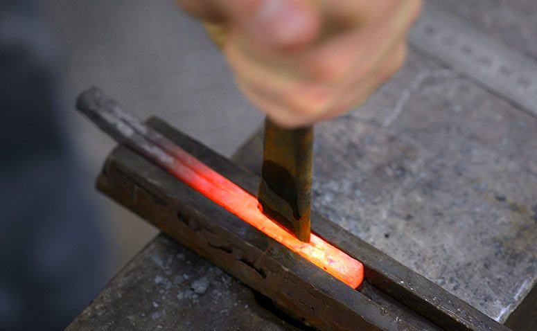
POLYGON ((537 116, 537 63, 439 9, 434 1, 425 2, 409 42, 537 116))

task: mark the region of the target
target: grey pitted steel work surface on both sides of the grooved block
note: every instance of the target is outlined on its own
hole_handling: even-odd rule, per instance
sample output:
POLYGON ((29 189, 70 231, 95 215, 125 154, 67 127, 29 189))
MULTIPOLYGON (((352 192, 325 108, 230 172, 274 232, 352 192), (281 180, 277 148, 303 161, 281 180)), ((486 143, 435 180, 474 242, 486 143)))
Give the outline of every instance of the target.
MULTIPOLYGON (((537 21, 529 0, 494 8, 466 2, 445 6, 472 19, 479 8, 477 28, 536 55, 525 39, 537 21), (506 37, 505 24, 516 37, 506 37)), ((536 150, 536 118, 410 51, 405 68, 367 105, 317 126, 312 204, 504 321, 536 283, 536 150)), ((158 238, 70 328, 159 325, 290 327, 259 308, 243 285, 158 238)))

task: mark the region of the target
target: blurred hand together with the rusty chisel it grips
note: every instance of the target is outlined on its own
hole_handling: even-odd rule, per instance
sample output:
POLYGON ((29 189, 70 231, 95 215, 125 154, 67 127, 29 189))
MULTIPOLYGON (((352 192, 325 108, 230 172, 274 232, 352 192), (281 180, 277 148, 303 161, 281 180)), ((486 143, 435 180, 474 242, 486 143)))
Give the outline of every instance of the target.
POLYGON ((258 202, 310 238, 311 125, 362 104, 403 64, 420 0, 178 0, 206 22, 267 114, 258 202))

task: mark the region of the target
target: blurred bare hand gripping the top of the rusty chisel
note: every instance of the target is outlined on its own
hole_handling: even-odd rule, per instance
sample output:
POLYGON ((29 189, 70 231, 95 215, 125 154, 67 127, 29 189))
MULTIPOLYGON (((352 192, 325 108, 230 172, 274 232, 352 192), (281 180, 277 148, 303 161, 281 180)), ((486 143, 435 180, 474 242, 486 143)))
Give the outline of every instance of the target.
POLYGON ((421 8, 421 0, 178 2, 210 22, 240 89, 285 127, 333 118, 367 100, 403 64, 421 8))

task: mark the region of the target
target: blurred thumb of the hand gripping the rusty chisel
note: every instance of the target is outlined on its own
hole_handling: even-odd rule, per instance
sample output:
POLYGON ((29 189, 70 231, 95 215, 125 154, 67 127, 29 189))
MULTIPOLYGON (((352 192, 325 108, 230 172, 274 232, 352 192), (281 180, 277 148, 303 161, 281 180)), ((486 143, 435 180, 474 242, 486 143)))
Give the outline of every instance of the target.
POLYGON ((299 48, 315 41, 321 14, 310 0, 221 0, 232 28, 273 48, 299 48))

